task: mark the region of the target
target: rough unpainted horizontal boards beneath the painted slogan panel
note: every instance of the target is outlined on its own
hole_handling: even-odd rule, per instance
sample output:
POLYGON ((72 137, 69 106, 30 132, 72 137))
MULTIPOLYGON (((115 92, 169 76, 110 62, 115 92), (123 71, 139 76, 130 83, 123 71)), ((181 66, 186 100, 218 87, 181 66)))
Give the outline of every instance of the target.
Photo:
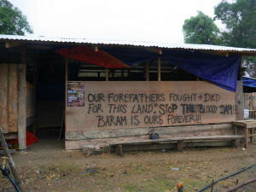
POLYGON ((109 143, 149 139, 150 133, 158 133, 160 138, 224 136, 233 134, 232 124, 187 125, 151 128, 115 129, 105 131, 66 132, 66 149, 81 149, 84 145, 104 147, 109 143))

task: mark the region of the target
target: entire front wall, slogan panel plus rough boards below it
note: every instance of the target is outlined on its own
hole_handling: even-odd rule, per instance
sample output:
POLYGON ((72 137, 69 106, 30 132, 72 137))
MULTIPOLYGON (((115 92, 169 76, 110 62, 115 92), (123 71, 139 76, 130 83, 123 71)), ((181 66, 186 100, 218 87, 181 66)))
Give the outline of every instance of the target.
MULTIPOLYGON (((71 88, 69 89, 71 90, 71 88)), ((75 86, 73 89, 81 89, 83 91, 82 88, 75 86)), ((241 92, 241 86, 239 86, 239 89, 237 89, 235 94, 234 92, 218 88, 216 85, 201 81, 175 82, 175 84, 172 82, 84 82, 84 105, 81 105, 80 107, 69 107, 72 102, 66 103, 66 149, 80 149, 88 144, 104 147, 109 143, 144 140, 149 139, 150 133, 158 133, 160 138, 232 135, 233 127, 230 122, 236 120, 236 115, 241 111, 243 112, 241 92), (144 95, 148 94, 147 96, 149 96, 149 94, 159 93, 161 94, 162 101, 111 102, 111 94, 116 93, 122 95, 131 94, 132 96, 137 93, 143 93, 144 95), (194 94, 196 95, 194 99, 195 101, 171 101, 172 98, 170 94, 173 95, 173 93, 180 94, 179 96, 194 94), (210 94, 212 94, 214 98, 211 102, 208 102, 207 96, 210 94), (97 99, 97 101, 93 102, 91 101, 92 96, 102 97, 102 100, 99 101, 100 99, 97 99), (218 101, 215 100, 217 96, 220 97, 218 101), (237 107, 239 104, 236 102, 241 102, 240 107, 237 107), (175 103, 177 104, 177 111, 172 111, 170 109, 170 111, 166 111, 165 114, 161 115, 160 118, 163 119, 162 124, 157 121, 147 123, 143 120, 150 116, 155 117, 155 115, 159 115, 161 109, 159 107, 160 105, 166 104, 166 106, 170 106, 175 103), (91 111, 92 108, 90 108, 89 104, 90 106, 99 106, 100 110, 91 111), (111 104, 112 107, 114 105, 115 108, 125 106, 124 108, 127 110, 122 111, 118 109, 118 111, 113 111, 110 110, 109 104, 111 104), (168 114, 179 115, 181 117, 186 115, 187 112, 181 108, 182 104, 201 104, 206 108, 216 107, 216 111, 214 111, 214 113, 199 113, 199 111, 189 112, 189 115, 193 115, 194 113, 200 114, 202 117, 200 122, 193 121, 187 123, 183 121, 183 123, 179 124, 179 122, 173 123, 170 121, 169 123, 169 121, 167 121, 168 114), (138 105, 152 105, 154 110, 150 110, 150 112, 137 111, 132 113, 131 110, 134 109, 134 106, 137 107, 138 105), (232 107, 232 112, 225 113, 223 106, 226 105, 232 107), (112 115, 113 117, 123 115, 127 118, 127 124, 106 124, 101 126, 98 124, 98 115, 102 115, 104 118, 109 115, 112 115), (132 124, 132 121, 129 120, 132 115, 137 115, 140 124, 132 124), (214 125, 205 125, 213 123, 214 125)), ((70 93, 70 97, 72 97, 73 92, 71 91, 70 93)), ((238 118, 243 118, 243 113, 242 117, 238 118)))

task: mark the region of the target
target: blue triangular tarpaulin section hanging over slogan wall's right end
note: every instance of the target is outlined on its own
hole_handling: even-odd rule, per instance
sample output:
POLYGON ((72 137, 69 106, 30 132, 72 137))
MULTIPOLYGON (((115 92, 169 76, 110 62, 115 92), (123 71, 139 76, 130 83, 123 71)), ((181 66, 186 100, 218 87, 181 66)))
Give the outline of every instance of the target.
POLYGON ((225 90, 236 91, 240 56, 229 57, 189 51, 164 50, 163 59, 225 90))

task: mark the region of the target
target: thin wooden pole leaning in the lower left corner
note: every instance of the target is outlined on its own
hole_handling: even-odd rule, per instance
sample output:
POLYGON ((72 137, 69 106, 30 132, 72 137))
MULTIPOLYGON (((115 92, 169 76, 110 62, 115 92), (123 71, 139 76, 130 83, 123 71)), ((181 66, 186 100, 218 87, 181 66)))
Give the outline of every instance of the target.
MULTIPOLYGON (((8 162, 9 162, 9 167, 15 177, 15 182, 18 184, 18 186, 20 187, 20 189, 22 188, 21 183, 20 183, 20 177, 16 171, 16 167, 15 167, 15 162, 12 158, 12 155, 9 153, 9 148, 7 147, 7 143, 5 141, 4 135, 3 135, 3 129, 2 129, 2 125, 0 124, 0 142, 2 144, 3 147, 3 151, 4 154, 8 157, 8 162)), ((22 189, 21 189, 22 191, 22 189)))

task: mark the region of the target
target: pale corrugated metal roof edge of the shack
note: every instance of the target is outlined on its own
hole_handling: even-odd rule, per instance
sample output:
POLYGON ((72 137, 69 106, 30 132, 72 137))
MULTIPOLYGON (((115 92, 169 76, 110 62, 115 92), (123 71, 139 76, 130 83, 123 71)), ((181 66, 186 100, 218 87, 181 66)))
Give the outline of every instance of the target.
POLYGON ((0 35, 0 40, 23 40, 29 43, 49 42, 49 43, 67 43, 67 44, 104 44, 104 45, 131 45, 142 47, 155 47, 160 49, 201 49, 201 50, 224 50, 224 51, 243 51, 255 52, 256 49, 226 47, 209 44, 171 44, 171 43, 157 43, 145 41, 121 41, 121 40, 102 40, 102 39, 88 39, 88 38, 46 38, 36 36, 18 36, 18 35, 0 35))

